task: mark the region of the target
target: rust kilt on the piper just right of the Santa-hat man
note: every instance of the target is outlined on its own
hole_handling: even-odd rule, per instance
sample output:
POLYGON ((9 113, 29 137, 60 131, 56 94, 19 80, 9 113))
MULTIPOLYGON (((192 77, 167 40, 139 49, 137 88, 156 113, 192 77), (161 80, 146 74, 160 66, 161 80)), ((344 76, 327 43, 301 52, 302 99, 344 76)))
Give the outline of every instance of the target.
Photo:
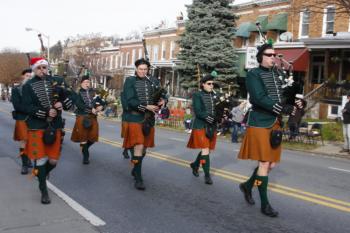
POLYGON ((88 116, 77 116, 71 136, 73 142, 97 142, 98 141, 98 122, 97 116, 89 114, 88 116), (89 117, 92 123, 91 128, 85 129, 83 126, 84 117, 89 117))

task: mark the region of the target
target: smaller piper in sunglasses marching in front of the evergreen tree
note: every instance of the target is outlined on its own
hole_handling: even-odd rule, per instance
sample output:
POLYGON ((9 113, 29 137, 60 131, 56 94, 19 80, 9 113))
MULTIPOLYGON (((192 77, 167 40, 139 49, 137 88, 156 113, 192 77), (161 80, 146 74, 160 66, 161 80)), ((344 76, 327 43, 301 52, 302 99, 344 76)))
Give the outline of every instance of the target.
POLYGON ((199 176, 199 167, 202 165, 204 180, 206 184, 213 184, 210 176, 209 154, 215 149, 216 144, 216 111, 215 106, 218 96, 213 91, 214 76, 208 74, 200 80, 201 90, 192 96, 192 106, 194 111, 194 121, 192 132, 187 147, 191 149, 201 149, 197 158, 190 164, 192 174, 199 176))

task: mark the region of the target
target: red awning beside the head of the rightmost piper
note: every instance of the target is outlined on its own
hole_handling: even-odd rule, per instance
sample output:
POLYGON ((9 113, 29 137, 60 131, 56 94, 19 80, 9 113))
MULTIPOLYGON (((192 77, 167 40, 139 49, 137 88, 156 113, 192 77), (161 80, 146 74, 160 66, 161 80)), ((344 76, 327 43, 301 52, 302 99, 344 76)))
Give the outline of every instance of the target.
MULTIPOLYGON (((309 68, 309 51, 307 48, 275 49, 276 54, 282 54, 283 59, 293 63, 294 71, 306 72, 309 68)), ((278 57, 276 63, 280 65, 278 57)))

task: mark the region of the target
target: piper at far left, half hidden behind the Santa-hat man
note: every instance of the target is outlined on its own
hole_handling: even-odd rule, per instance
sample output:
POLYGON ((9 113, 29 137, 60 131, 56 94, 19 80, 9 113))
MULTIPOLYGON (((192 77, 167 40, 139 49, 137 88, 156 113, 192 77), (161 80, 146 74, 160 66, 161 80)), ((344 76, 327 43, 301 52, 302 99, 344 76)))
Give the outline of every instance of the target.
POLYGON ((12 117, 16 120, 15 130, 13 133, 13 139, 20 142, 19 153, 22 160, 21 174, 28 174, 28 168, 32 167, 32 163, 28 158, 26 152, 27 143, 27 124, 26 119, 28 115, 25 113, 25 108, 23 107, 23 95, 22 88, 23 85, 32 77, 32 70, 25 69, 22 71, 21 83, 12 89, 11 102, 14 108, 12 112, 12 117))

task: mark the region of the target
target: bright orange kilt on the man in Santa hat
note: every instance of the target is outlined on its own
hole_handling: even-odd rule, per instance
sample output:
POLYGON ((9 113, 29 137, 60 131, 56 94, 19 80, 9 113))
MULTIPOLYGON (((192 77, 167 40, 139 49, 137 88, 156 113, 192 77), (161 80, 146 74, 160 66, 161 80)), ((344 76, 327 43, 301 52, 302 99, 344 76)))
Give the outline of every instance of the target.
POLYGON ((49 159, 58 160, 60 158, 61 135, 62 130, 56 131, 56 140, 52 145, 45 145, 43 142, 44 130, 28 130, 28 141, 26 150, 30 159, 49 159))

